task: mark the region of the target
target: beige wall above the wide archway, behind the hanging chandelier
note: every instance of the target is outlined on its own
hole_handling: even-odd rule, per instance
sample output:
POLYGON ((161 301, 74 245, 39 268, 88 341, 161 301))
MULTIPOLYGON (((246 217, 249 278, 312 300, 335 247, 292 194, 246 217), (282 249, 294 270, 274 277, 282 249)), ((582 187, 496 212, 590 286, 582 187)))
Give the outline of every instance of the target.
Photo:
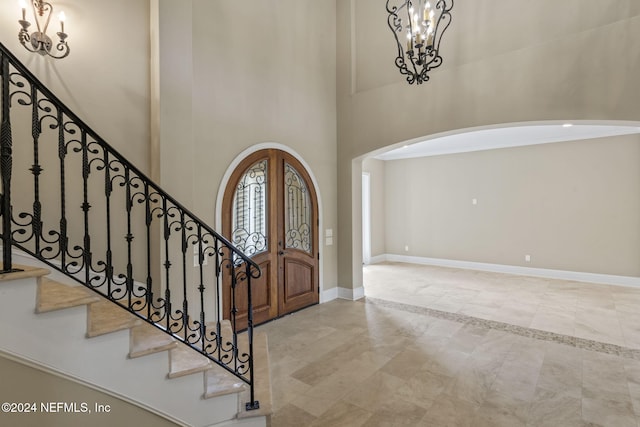
MULTIPOLYGON (((428 83, 410 86, 399 73, 393 77, 383 7, 337 0, 338 176, 349 179, 363 156, 383 147, 456 129, 638 120, 640 3, 605 3, 456 1, 442 45, 445 65, 428 83), (385 37, 388 43, 375 43, 385 37)), ((345 203, 358 199, 359 189, 351 187, 353 194, 340 195, 338 280, 359 287, 353 260, 360 248, 353 242, 361 239, 361 215, 345 203)))

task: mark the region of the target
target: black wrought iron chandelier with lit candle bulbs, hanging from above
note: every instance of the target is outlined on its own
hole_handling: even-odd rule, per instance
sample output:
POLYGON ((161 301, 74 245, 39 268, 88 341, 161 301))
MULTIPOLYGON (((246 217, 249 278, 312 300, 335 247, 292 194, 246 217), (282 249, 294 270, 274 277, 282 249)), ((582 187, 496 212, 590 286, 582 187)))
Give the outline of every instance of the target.
POLYGON ((396 66, 409 84, 429 80, 442 64, 440 40, 451 24, 453 0, 387 0, 387 23, 398 47, 396 66))

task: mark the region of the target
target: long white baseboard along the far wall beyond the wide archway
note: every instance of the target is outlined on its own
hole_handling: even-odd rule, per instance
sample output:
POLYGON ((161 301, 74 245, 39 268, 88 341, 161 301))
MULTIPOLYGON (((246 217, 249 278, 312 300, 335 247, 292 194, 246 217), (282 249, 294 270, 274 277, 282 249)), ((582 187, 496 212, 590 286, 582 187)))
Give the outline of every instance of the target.
POLYGON ((549 279, 574 280, 577 282, 600 283, 605 285, 640 287, 640 277, 616 276, 612 274, 585 273, 580 271, 552 270, 546 268, 520 267, 516 265, 488 264, 482 262, 459 261, 441 258, 425 258, 397 254, 383 254, 371 258, 376 262, 406 262, 411 264, 434 265, 439 267, 464 268, 490 271, 494 273, 516 274, 519 276, 546 277, 549 279))

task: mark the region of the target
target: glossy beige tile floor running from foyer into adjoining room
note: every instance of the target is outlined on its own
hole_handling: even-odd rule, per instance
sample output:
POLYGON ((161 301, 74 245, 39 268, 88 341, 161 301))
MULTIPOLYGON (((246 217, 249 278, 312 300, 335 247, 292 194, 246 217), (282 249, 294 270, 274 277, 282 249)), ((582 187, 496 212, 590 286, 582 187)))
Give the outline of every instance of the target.
POLYGON ((383 263, 260 326, 272 427, 640 427, 640 289, 383 263))

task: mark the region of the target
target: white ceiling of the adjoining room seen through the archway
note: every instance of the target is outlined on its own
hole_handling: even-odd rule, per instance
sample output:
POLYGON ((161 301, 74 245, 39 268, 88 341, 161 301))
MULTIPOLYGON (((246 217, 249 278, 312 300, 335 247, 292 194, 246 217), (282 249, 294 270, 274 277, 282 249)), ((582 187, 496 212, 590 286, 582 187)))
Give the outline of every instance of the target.
POLYGON ((640 134, 640 123, 524 124, 436 135, 396 145, 392 150, 374 157, 380 160, 399 160, 629 134, 640 134))

